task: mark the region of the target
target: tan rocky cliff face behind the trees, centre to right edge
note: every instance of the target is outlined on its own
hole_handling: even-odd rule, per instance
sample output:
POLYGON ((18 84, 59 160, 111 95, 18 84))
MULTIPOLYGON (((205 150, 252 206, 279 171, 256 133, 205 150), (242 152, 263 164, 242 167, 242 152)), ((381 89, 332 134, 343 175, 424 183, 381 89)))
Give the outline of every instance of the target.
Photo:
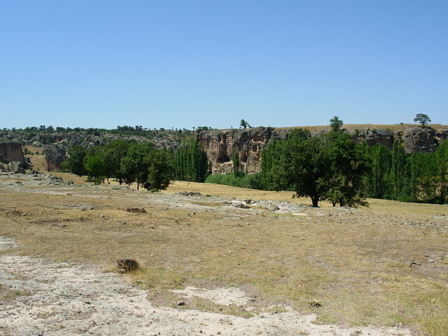
MULTIPOLYGON (((285 139, 292 128, 257 127, 246 130, 213 130, 200 131, 197 140, 200 141, 211 161, 214 173, 230 173, 232 155, 239 153, 241 170, 247 173, 260 172, 260 154, 269 141, 285 139)), ((329 129, 311 133, 316 136, 329 132, 329 129)), ((392 148, 394 139, 401 140, 407 153, 435 151, 439 141, 448 139, 448 130, 435 132, 432 129, 412 128, 405 131, 391 132, 388 130, 349 130, 356 144, 366 141, 369 146, 381 144, 392 148)))

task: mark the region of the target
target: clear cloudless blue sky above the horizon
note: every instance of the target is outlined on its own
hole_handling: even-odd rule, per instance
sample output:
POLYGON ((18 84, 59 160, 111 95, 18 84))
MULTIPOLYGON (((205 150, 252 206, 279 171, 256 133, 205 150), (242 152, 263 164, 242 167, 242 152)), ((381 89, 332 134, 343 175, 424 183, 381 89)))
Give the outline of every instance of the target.
POLYGON ((0 129, 448 124, 448 1, 0 0, 0 129))

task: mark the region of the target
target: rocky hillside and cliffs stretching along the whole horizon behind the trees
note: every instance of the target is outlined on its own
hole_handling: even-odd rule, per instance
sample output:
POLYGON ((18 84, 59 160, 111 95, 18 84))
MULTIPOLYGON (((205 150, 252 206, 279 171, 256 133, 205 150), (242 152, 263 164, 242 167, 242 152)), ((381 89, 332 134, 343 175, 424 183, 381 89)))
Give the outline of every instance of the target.
MULTIPOLYGON (((212 172, 232 172, 232 158, 235 151, 239 152, 241 168, 244 172, 260 172, 260 153, 269 141, 284 139, 295 128, 304 128, 311 134, 328 132, 330 127, 303 126, 303 127, 253 127, 248 129, 211 130, 209 127, 198 127, 197 130, 148 130, 141 126, 118 127, 116 130, 56 129, 27 127, 25 130, 0 131, 1 143, 17 143, 22 146, 45 148, 47 169, 61 169, 66 158, 66 151, 73 146, 92 146, 107 144, 114 139, 125 139, 144 143, 151 141, 159 148, 176 149, 183 139, 196 137, 200 141, 211 162, 212 172)), ((367 141, 367 144, 383 144, 392 147, 395 139, 402 141, 407 153, 435 151, 437 144, 448 138, 448 126, 433 124, 422 129, 416 124, 398 125, 344 125, 353 141, 367 141)))

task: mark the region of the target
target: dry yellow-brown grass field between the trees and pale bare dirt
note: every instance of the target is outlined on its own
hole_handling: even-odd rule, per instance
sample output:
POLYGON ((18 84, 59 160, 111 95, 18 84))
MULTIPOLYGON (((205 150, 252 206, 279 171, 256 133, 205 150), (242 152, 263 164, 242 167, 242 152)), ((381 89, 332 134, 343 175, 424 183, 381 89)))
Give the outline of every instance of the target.
MULTIPOLYGON (((103 272, 117 272, 117 258, 135 258, 141 269, 130 280, 160 307, 183 299, 174 289, 235 286, 251 297, 251 311, 197 297, 179 309, 248 317, 289 306, 317 314, 318 323, 448 335, 446 206, 369 200, 363 209, 313 209, 291 193, 179 181, 148 193, 56 174, 83 186, 0 179, 0 236, 18 241, 0 255, 89 264, 103 272), (183 191, 202 195, 177 194, 183 191), (292 210, 239 209, 232 197, 290 202, 292 210)), ((2 300, 15 295, 0 288, 2 300)))

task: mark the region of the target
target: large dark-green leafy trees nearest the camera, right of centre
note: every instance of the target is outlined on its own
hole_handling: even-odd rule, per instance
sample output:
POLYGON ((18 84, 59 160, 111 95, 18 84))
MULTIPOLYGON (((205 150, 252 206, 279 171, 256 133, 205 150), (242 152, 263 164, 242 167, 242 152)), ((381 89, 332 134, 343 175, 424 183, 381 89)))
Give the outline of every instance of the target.
POLYGON ((293 130, 262 151, 261 165, 266 190, 293 190, 297 197, 310 197, 313 207, 321 200, 350 207, 365 204, 360 196, 369 170, 365 148, 340 130, 322 137, 293 130))

